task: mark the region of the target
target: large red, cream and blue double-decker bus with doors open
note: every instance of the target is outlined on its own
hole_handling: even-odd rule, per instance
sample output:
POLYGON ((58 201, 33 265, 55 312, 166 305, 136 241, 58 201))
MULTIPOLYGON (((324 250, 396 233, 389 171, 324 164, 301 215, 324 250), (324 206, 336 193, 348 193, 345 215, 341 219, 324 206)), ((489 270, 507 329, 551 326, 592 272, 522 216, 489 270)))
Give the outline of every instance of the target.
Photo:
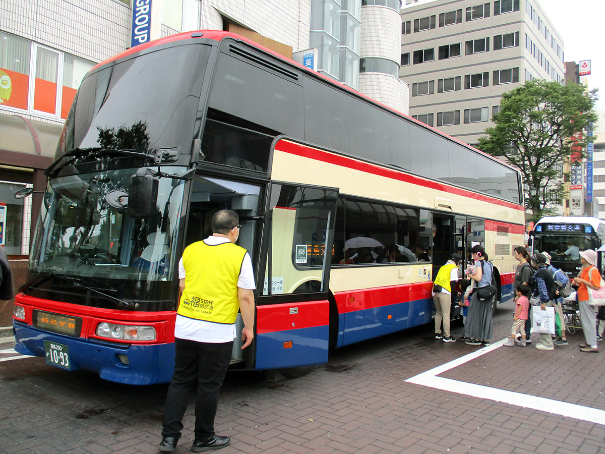
POLYGON ((240 215, 257 278, 234 369, 430 322, 436 270, 476 244, 505 300, 523 243, 514 168, 223 31, 94 67, 47 176, 15 349, 128 384, 170 380, 178 260, 217 209, 240 215))

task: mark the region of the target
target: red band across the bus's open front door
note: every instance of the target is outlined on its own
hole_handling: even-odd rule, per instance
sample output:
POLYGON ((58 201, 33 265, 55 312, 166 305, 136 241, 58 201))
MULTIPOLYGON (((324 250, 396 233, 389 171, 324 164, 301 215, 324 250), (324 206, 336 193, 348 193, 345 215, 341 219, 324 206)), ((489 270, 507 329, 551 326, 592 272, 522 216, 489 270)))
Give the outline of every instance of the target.
POLYGON ((330 324, 328 300, 257 306, 257 334, 330 324), (291 314, 290 309, 296 309, 291 314))

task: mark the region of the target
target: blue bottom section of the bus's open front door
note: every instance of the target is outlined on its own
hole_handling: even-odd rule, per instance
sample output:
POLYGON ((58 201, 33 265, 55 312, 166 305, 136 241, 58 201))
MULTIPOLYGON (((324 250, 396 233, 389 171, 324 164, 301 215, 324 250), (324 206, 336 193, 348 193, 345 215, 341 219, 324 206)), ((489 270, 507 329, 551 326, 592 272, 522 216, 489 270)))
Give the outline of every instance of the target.
POLYGON ((257 334, 255 369, 327 363, 329 332, 329 326, 326 325, 257 334), (284 348, 284 343, 289 341, 292 341, 292 347, 284 348))

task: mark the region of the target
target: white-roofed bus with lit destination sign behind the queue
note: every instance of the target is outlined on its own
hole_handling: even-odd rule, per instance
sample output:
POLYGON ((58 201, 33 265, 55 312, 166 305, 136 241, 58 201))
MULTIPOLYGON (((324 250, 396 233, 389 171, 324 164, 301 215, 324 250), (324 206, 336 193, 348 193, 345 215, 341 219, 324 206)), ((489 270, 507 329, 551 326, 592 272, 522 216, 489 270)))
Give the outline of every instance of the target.
POLYGON ((605 221, 595 217, 546 216, 529 232, 532 252, 548 252, 555 268, 576 277, 582 267, 580 251, 605 244, 605 221))

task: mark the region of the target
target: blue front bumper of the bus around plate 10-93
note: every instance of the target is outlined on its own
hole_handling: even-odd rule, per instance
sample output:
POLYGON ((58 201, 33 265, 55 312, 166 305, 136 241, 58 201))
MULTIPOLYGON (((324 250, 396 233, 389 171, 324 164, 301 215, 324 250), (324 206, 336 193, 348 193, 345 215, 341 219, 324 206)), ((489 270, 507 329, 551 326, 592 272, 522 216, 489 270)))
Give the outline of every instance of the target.
POLYGON ((15 350, 44 357, 44 341, 68 347, 70 370, 88 370, 101 378, 125 384, 168 383, 174 372, 174 343, 114 347, 79 337, 69 337, 13 322, 15 350), (126 355, 123 364, 118 355, 126 355))

